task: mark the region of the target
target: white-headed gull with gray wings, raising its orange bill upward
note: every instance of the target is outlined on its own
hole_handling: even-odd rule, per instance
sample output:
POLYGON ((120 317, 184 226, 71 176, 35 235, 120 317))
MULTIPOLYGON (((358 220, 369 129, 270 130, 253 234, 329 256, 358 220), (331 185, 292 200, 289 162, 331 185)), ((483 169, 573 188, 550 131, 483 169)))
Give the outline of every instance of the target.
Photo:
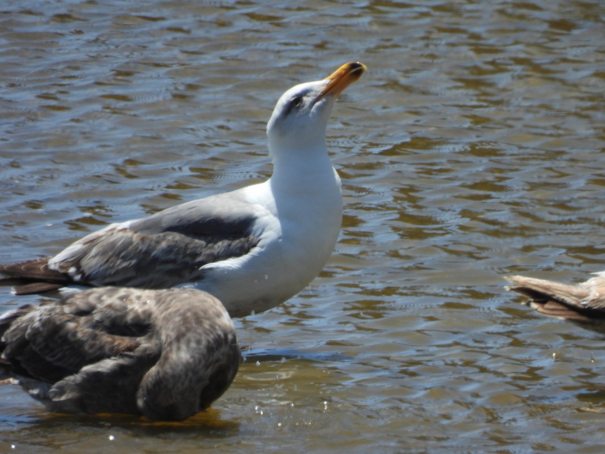
POLYGON ((266 182, 111 224, 54 257, 1 265, 0 274, 20 280, 16 294, 188 284, 215 295, 232 317, 283 303, 319 274, 338 239, 341 182, 325 127, 336 96, 364 71, 347 63, 280 97, 267 124, 266 182))

